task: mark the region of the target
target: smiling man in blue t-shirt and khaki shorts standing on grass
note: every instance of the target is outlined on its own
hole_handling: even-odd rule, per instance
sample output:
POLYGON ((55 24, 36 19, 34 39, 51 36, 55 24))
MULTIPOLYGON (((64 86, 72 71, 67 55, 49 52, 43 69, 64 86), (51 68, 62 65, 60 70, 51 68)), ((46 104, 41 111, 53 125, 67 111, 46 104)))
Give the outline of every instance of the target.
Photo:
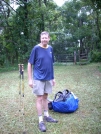
POLYGON ((48 113, 48 94, 52 93, 54 80, 54 55, 52 46, 48 45, 50 40, 49 33, 44 31, 40 35, 40 43, 36 45, 30 54, 28 60, 28 80, 29 86, 33 88, 36 94, 36 108, 39 117, 39 129, 46 132, 44 121, 57 123, 56 119, 49 116, 48 113), (32 69, 33 65, 33 69, 32 69), (33 72, 33 77, 32 77, 33 72), (44 110, 44 118, 42 111, 44 110))

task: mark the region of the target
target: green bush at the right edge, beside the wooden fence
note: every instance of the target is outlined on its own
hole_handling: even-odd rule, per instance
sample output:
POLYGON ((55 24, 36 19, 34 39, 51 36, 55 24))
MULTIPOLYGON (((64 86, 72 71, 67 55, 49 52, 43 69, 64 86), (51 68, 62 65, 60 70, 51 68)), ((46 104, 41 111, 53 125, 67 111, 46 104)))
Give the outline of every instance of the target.
POLYGON ((93 50, 91 52, 91 60, 93 62, 101 62, 101 52, 98 50, 93 50))

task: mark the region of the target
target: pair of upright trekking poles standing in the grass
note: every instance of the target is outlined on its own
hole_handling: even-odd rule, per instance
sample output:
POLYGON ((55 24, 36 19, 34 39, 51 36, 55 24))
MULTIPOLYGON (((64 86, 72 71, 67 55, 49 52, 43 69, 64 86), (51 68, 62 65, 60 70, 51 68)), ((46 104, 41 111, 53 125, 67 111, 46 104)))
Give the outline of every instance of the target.
POLYGON ((25 110, 24 110, 24 65, 23 64, 19 64, 19 72, 20 72, 19 114, 21 113, 21 96, 22 96, 23 134, 26 134, 26 132, 25 132, 25 110))

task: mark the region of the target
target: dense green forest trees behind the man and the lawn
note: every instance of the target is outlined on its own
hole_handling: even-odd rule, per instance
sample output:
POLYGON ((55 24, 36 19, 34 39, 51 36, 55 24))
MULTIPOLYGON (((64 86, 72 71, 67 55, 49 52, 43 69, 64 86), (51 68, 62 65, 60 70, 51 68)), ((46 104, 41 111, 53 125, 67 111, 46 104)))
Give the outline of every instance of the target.
POLYGON ((0 0, 0 67, 26 63, 44 30, 54 55, 87 50, 91 61, 101 62, 100 0, 71 0, 61 7, 53 0, 0 0))

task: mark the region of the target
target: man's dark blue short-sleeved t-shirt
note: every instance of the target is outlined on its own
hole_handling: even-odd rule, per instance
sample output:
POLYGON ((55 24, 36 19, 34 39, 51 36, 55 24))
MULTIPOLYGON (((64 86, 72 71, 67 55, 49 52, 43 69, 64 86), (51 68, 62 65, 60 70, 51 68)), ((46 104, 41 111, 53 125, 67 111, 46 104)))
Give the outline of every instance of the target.
POLYGON ((33 77, 35 80, 54 79, 54 56, 53 48, 50 45, 48 45, 48 48, 36 45, 32 49, 28 62, 33 65, 33 77))

